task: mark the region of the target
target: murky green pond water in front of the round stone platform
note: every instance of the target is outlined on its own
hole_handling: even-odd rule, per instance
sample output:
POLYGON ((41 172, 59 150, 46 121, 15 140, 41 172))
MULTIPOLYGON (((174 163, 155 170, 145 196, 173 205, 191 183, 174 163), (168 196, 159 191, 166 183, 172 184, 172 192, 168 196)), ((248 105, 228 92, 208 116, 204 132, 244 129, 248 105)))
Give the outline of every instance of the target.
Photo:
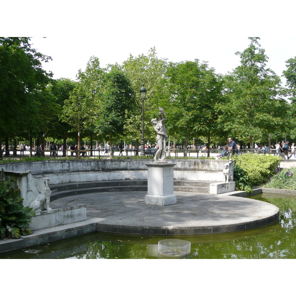
POLYGON ((296 259, 296 196, 257 194, 280 209, 278 222, 237 232, 194 236, 144 236, 94 232, 0 254, 0 259, 171 259, 158 254, 158 241, 191 242, 183 259, 296 259))

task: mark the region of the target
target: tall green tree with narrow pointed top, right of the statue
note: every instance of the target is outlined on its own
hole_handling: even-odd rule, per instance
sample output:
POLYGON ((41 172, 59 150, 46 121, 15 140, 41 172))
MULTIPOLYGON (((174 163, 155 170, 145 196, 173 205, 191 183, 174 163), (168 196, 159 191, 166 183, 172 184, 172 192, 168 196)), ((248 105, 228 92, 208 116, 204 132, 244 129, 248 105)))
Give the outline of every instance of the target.
POLYGON ((278 98, 280 77, 269 68, 268 57, 260 48, 259 37, 249 37, 251 44, 243 52, 240 66, 225 76, 225 104, 220 122, 233 138, 250 142, 267 138, 274 130, 281 130, 287 111, 285 100, 278 98))

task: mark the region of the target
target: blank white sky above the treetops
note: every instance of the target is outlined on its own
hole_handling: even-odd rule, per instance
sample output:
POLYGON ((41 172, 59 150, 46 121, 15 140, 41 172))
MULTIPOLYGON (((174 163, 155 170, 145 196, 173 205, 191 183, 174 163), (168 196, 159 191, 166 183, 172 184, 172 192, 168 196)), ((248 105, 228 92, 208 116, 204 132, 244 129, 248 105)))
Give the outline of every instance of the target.
POLYGON ((4 28, 3 36, 33 36, 32 47, 52 57, 43 68, 54 78, 75 79, 91 56, 104 67, 121 64, 130 53, 147 54, 153 46, 159 58, 208 61, 226 74, 239 65, 235 52, 248 47, 249 36, 261 38, 267 66, 278 75, 286 70, 285 61, 296 56, 292 0, 16 2, 3 4, 11 13, 2 14, 0 31, 4 28))

